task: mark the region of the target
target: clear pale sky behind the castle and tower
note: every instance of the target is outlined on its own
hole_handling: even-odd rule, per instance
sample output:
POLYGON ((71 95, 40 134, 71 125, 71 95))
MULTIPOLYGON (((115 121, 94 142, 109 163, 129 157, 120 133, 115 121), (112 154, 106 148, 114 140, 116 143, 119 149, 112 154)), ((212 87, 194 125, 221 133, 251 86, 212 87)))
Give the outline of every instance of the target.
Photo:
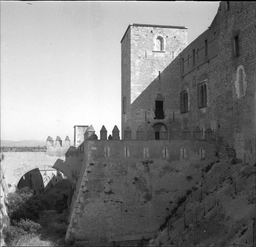
POLYGON ((74 125, 121 131, 121 38, 129 23, 185 26, 188 44, 219 2, 1 1, 0 138, 73 142, 74 125))

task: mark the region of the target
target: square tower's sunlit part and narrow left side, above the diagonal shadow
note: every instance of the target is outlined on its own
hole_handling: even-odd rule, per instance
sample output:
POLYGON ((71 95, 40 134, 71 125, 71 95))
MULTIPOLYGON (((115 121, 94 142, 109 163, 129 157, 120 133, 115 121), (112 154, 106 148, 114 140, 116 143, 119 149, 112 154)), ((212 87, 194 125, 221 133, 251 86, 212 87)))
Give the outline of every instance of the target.
POLYGON ((130 24, 121 40, 122 139, 130 106, 187 46, 187 28, 130 24))

